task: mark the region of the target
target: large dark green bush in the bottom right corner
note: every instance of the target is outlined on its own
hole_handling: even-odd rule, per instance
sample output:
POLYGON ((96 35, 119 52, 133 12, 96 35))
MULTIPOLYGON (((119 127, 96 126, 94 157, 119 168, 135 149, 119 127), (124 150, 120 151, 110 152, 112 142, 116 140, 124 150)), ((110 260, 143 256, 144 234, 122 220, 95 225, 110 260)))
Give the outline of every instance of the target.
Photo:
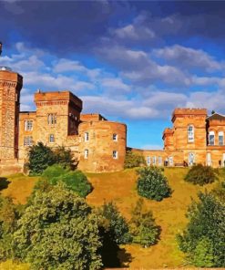
POLYGON ((212 193, 199 193, 187 216, 189 223, 178 235, 179 248, 196 266, 225 266, 225 205, 212 193))

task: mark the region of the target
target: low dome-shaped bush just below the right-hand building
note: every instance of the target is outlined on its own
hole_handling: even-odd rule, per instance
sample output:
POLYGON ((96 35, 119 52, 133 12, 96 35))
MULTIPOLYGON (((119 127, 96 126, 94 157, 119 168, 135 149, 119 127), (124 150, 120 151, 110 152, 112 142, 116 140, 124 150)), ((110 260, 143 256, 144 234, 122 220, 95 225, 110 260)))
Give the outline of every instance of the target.
POLYGON ((210 166, 198 164, 190 168, 184 179, 187 182, 192 182, 202 186, 204 184, 214 182, 217 179, 217 176, 216 171, 210 166))

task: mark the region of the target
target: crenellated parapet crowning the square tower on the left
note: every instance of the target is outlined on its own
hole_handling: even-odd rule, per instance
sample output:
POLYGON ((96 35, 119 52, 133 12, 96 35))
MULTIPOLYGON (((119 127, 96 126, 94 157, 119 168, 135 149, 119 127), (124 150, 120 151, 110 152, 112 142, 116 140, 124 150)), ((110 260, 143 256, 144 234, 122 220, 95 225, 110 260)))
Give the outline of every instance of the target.
MULTIPOLYGON (((77 98, 76 95, 70 91, 56 91, 56 92, 37 92, 35 94, 36 106, 41 103, 52 105, 52 102, 56 101, 67 101, 74 104, 78 109, 82 110, 82 100, 77 98)), ((67 102, 65 104, 67 104, 67 102)))

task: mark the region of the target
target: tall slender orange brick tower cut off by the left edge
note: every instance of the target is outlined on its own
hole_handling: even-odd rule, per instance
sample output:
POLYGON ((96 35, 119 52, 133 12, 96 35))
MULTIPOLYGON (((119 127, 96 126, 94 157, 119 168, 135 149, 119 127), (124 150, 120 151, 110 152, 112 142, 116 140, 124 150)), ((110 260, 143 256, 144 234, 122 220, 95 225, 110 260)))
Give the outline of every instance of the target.
POLYGON ((22 76, 10 68, 0 68, 0 163, 17 159, 22 86, 22 76))

